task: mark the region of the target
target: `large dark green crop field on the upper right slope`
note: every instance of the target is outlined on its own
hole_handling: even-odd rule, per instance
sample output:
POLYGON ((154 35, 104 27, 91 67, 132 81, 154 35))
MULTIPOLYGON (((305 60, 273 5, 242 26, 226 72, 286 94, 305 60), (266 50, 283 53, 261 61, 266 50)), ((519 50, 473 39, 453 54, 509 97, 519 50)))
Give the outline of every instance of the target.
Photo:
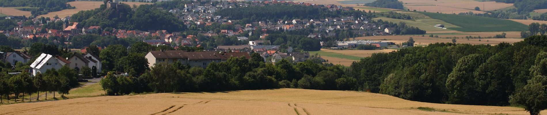
POLYGON ((504 31, 526 31, 528 26, 503 19, 494 19, 491 17, 482 16, 468 16, 468 15, 456 15, 456 14, 440 14, 440 13, 426 13, 425 14, 433 19, 443 20, 448 23, 459 27, 447 27, 455 31, 461 32, 504 32, 504 31))

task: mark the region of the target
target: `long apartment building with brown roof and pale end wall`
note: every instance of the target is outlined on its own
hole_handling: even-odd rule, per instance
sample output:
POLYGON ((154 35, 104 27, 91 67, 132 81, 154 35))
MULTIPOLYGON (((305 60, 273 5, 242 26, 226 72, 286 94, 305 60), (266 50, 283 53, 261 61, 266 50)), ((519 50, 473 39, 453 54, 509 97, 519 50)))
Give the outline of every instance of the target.
POLYGON ((180 50, 171 50, 171 51, 150 51, 145 56, 148 59, 148 66, 152 67, 156 63, 168 63, 181 62, 184 65, 191 67, 199 66, 201 68, 206 68, 212 62, 224 62, 230 57, 245 57, 247 59, 251 58, 247 52, 230 52, 230 53, 219 53, 214 51, 205 51, 205 52, 186 52, 180 50))

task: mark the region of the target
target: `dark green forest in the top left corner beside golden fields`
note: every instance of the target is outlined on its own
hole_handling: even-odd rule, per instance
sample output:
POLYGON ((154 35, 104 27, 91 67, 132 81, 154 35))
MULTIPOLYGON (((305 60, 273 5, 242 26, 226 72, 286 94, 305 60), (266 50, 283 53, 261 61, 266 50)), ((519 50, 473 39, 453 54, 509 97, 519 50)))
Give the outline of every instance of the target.
MULTIPOLYGON (((31 11, 33 16, 48 14, 53 11, 74 9, 67 2, 74 0, 0 0, 1 7, 30 7, 21 10, 31 11)), ((28 17, 28 16, 27 16, 28 17)))

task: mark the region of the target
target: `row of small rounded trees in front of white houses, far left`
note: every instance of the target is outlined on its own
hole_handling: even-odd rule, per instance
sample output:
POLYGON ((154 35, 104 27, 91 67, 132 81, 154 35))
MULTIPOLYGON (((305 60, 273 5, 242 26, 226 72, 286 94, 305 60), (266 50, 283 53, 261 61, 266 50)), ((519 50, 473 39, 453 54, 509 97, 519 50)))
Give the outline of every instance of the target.
MULTIPOLYGON (((63 66, 59 70, 49 69, 36 76, 30 76, 30 72, 22 72, 18 75, 0 74, 0 98, 4 97, 9 103, 9 95, 13 94, 16 99, 21 96, 21 101, 25 101, 22 98, 25 94, 38 93, 38 100, 40 92, 54 92, 54 99, 55 92, 63 97, 68 94, 68 90, 79 86, 77 76, 78 72, 68 66, 63 66)), ((47 99, 47 93, 45 96, 47 99)), ((3 104, 3 102, 0 103, 3 104)))

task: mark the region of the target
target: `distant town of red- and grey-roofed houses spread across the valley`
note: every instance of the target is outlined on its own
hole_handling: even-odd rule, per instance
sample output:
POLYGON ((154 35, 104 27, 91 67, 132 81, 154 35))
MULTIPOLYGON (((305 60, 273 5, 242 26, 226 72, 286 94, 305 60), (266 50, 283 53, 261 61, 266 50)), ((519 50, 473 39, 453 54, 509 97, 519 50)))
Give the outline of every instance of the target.
MULTIPOLYGON (((120 4, 118 1, 109 2, 109 7, 116 8, 117 4, 120 4)), ((328 8, 329 10, 354 10, 352 7, 342 7, 340 5, 334 4, 311 4, 303 2, 293 2, 293 1, 253 1, 253 2, 237 2, 237 1, 221 1, 218 4, 206 3, 201 4, 199 2, 184 4, 184 9, 165 9, 170 13, 176 14, 179 19, 181 19, 186 26, 197 26, 205 27, 212 25, 212 23, 222 23, 225 25, 234 25, 238 20, 229 20, 229 17, 217 16, 214 13, 218 10, 226 8, 235 8, 235 7, 249 7, 249 6, 264 6, 268 4, 287 4, 287 5, 307 5, 317 8, 328 8)), ((5 17, 6 19, 13 19, 11 17, 5 17)), ((18 22, 13 30, 0 31, 0 33, 9 36, 19 37, 21 39, 32 39, 33 37, 44 37, 49 38, 51 36, 56 36, 60 38, 65 38, 68 41, 73 35, 79 34, 100 34, 100 35, 114 35, 117 38, 123 39, 127 37, 148 37, 150 35, 159 37, 158 40, 149 40, 145 41, 152 45, 170 45, 176 44, 185 45, 185 46, 197 46, 199 45, 199 40, 195 39, 195 35, 181 36, 179 32, 167 32, 165 30, 124 30, 124 29, 114 29, 113 31, 103 31, 100 26, 82 26, 78 22, 72 22, 70 16, 64 18, 50 19, 46 22, 63 22, 63 29, 49 29, 45 28, 45 31, 42 31, 43 24, 33 25, 33 26, 22 26, 23 22, 18 22), (45 32, 45 33, 42 33, 45 32), (163 40, 163 41, 160 41, 163 40)), ((32 21, 40 23, 42 20, 33 19, 32 21)), ((232 29, 224 29, 219 33, 216 32, 199 32, 201 35, 207 37, 214 37, 220 34, 225 34, 228 36, 237 36, 238 40, 248 40, 247 37, 241 35, 244 31, 248 31, 249 35, 253 34, 253 30, 260 29, 263 32, 268 30, 272 31, 293 31, 298 29, 310 28, 316 31, 316 33, 311 33, 308 35, 309 38, 321 39, 324 37, 335 37, 336 29, 348 30, 351 29, 354 34, 357 36, 365 35, 391 35, 394 31, 394 28, 387 27, 386 25, 376 25, 371 23, 371 20, 365 16, 359 17, 335 17, 335 18, 325 18, 325 19, 294 19, 294 20, 269 20, 269 21, 259 21, 247 23, 245 25, 234 25, 232 29), (313 25, 313 26, 311 26, 313 25)), ((261 34, 261 38, 267 37, 267 34, 261 34)), ((60 41, 54 40, 54 43, 59 43, 60 41)), ((65 43, 70 44, 70 43, 65 43)))

